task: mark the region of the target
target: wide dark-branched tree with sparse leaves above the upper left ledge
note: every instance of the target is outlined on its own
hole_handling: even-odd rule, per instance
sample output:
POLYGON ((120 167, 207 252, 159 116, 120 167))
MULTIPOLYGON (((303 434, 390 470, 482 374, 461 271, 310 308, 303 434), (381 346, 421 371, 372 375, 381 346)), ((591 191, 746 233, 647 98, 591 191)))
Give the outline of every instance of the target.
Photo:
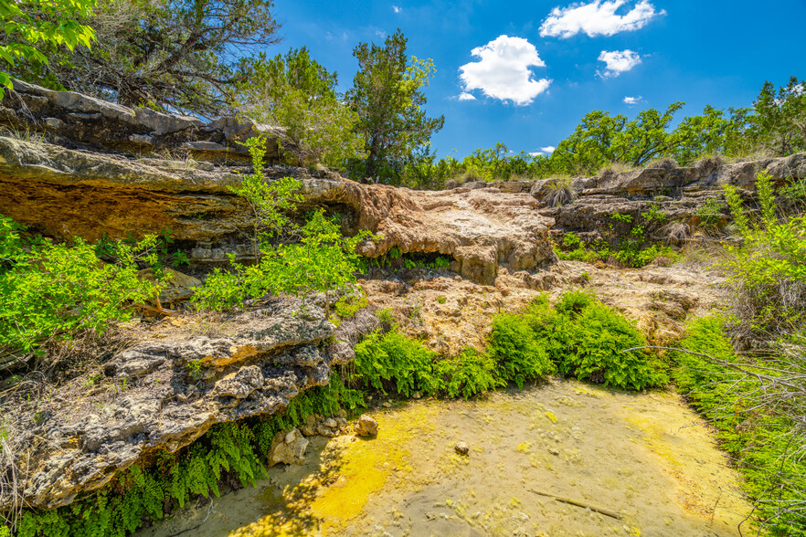
MULTIPOLYGON (((61 0, 69 5, 69 0, 61 0)), ((37 47, 52 61, 48 77, 126 106, 214 116, 228 111, 239 58, 279 41, 270 0, 99 0, 82 21, 97 36, 70 54, 37 47)), ((47 81, 45 79, 44 81, 47 81)))

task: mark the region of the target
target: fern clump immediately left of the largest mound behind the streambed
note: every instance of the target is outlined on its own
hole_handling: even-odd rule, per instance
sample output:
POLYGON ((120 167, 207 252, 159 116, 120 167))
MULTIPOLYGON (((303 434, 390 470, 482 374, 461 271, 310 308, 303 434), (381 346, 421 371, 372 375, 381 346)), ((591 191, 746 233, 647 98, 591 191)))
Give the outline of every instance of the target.
POLYGON ((493 317, 487 353, 497 364, 497 376, 519 388, 527 380, 542 379, 555 371, 525 315, 499 313, 493 317))

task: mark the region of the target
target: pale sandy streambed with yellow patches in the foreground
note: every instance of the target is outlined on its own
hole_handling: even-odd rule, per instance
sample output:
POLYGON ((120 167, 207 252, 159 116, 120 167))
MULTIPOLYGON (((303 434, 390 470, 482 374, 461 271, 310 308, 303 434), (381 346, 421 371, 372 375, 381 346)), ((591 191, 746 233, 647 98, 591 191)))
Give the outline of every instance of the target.
POLYGON ((315 437, 304 465, 140 534, 722 536, 750 511, 672 393, 552 382, 373 414, 377 438, 315 437))

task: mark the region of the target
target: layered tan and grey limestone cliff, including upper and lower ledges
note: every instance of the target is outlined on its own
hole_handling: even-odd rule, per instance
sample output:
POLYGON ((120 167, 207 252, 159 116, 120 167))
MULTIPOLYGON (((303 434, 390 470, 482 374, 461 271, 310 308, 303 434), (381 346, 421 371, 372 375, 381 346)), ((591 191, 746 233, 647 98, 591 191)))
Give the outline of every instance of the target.
MULTIPOLYGON (((649 168, 578 178, 577 200, 551 207, 544 202, 551 180, 441 192, 357 184, 283 165, 277 129, 132 110, 21 83, 0 103, 0 127, 0 214, 56 238, 170 229, 199 273, 229 253, 249 258, 247 206, 228 187, 249 173, 238 142, 269 132, 267 175, 299 179, 301 208, 340 215, 346 233, 375 233, 361 253, 379 257, 396 247, 452 258, 451 271, 381 271, 360 281, 371 308, 391 308, 406 332, 446 354, 483 345, 496 312, 525 305, 537 291, 577 286, 638 321, 652 342, 673 341, 687 314, 716 305, 718 278, 691 267, 616 271, 558 262, 551 233, 595 236, 614 212, 637 215, 650 203, 694 225, 697 208, 723 184, 751 195, 759 170, 780 180, 806 176, 803 154, 649 168)), ((5 405, 26 504, 69 504, 158 450, 186 446, 217 423, 277 412, 327 383, 330 367, 352 360, 350 342, 376 319, 361 314, 336 328, 321 301, 259 300, 226 319, 188 314, 128 327, 125 348, 90 373, 48 387, 34 402, 5 405)), ((3 497, 0 508, 10 501, 3 497)))

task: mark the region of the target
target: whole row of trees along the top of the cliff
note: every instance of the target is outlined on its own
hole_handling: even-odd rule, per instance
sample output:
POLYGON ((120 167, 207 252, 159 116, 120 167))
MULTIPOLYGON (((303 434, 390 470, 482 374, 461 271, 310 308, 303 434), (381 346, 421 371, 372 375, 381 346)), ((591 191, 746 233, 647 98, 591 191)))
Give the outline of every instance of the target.
POLYGON ((751 106, 685 117, 684 102, 632 120, 591 111, 549 154, 504 143, 461 160, 439 158, 430 137, 444 124, 425 111, 430 59, 409 57, 402 31, 360 43, 345 93, 306 47, 268 56, 281 41, 270 0, 0 0, 0 91, 10 77, 126 106, 236 114, 285 128, 289 163, 323 164, 358 181, 442 188, 448 181, 541 179, 646 166, 658 159, 786 156, 806 151, 806 80, 765 82, 751 106), (234 51, 237 50, 236 54, 234 51))

